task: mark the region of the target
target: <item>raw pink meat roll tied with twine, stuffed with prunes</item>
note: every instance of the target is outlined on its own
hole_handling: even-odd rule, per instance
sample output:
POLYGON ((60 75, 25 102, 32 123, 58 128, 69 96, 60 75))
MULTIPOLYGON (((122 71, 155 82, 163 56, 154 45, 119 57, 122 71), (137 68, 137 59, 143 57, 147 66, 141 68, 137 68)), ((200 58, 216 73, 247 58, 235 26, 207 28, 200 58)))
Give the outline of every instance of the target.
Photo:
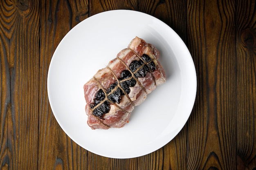
POLYGON ((158 59, 152 44, 135 37, 83 86, 90 128, 121 128, 128 122, 134 106, 166 81, 158 59))

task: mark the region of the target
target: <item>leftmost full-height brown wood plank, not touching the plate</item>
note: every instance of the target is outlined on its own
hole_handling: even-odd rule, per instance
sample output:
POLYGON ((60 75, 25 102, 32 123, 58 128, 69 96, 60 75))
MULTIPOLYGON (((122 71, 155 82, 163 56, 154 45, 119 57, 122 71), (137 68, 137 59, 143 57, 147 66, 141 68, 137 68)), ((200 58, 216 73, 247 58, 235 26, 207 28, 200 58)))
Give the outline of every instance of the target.
POLYGON ((0 8, 0 169, 37 168, 39 4, 2 1, 0 8))

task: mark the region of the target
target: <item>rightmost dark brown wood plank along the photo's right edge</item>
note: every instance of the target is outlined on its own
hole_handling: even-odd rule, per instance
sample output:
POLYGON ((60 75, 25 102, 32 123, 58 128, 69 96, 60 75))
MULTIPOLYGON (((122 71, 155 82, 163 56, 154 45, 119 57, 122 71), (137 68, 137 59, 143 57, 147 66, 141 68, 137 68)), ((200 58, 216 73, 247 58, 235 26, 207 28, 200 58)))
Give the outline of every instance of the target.
POLYGON ((236 5, 237 153, 240 169, 256 168, 256 4, 236 5))

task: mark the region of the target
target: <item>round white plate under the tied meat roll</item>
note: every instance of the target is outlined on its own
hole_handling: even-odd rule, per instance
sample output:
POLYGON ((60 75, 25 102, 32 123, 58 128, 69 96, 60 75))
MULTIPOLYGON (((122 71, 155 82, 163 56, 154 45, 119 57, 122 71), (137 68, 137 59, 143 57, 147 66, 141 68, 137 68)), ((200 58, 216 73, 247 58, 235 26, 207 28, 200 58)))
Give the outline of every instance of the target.
POLYGON ((77 144, 95 154, 132 158, 149 154, 173 139, 195 102, 195 66, 181 38, 164 22, 130 10, 93 15, 70 30, 49 66, 49 102, 58 124, 77 144), (83 85, 138 36, 161 53, 166 83, 135 107, 124 128, 91 130, 83 85))

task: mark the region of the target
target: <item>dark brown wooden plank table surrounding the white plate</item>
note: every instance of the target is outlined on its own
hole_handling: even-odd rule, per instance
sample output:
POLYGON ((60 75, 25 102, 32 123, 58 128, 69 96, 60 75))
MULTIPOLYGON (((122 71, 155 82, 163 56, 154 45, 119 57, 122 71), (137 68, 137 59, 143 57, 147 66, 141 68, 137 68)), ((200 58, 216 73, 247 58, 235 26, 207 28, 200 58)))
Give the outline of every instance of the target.
POLYGON ((255 0, 1 0, 0 82, 0 170, 256 169, 255 0), (58 43, 82 20, 113 9, 142 11, 171 26, 197 72, 184 128, 163 148, 133 159, 78 146, 47 97, 58 43))

